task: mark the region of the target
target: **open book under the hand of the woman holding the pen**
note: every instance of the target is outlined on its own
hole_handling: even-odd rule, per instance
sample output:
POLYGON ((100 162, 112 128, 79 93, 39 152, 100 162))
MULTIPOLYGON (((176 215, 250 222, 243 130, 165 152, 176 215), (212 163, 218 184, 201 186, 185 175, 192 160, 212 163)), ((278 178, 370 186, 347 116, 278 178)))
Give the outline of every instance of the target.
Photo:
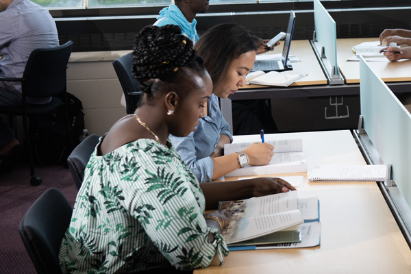
MULTIPOLYGON (((275 173, 298 173, 307 171, 307 161, 303 153, 302 139, 266 140, 274 146, 274 155, 265 166, 245 166, 229 172, 225 177, 265 175, 275 173)), ((242 151, 253 142, 234 142, 224 145, 224 155, 242 151)))

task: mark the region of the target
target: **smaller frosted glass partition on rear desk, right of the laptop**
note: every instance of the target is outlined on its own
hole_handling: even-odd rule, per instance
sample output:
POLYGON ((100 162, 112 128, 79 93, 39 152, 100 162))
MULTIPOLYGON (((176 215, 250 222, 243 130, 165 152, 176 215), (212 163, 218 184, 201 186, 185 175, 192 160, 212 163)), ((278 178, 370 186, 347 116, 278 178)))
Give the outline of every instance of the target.
POLYGON ((314 45, 327 58, 329 63, 327 71, 332 75, 338 75, 336 22, 319 0, 314 0, 314 29, 315 38, 318 41, 318 45, 316 45, 317 43, 314 45), (319 47, 322 47, 323 50, 319 47))

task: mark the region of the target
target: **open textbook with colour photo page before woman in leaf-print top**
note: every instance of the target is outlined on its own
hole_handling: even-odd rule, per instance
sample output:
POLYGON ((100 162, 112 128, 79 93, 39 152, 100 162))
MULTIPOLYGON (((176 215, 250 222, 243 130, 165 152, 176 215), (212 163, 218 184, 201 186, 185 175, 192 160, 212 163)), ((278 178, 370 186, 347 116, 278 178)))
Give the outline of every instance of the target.
MULTIPOLYGON (((299 227, 303 216, 298 209, 297 191, 289 191, 276 195, 254 197, 238 201, 224 201, 219 210, 228 210, 232 216, 223 230, 227 245, 260 238, 261 244, 270 242, 299 242, 299 227), (288 229, 292 227, 291 229, 288 229), (288 229, 288 230, 284 230, 288 229), (266 236, 273 232, 289 231, 290 234, 266 236), (279 238, 278 238, 279 237, 279 238), (285 239, 285 237, 289 237, 285 239), (297 239, 296 239, 297 237, 297 239)), ((258 242, 251 242, 256 245, 258 242)), ((245 243, 242 243, 245 245, 245 243)))

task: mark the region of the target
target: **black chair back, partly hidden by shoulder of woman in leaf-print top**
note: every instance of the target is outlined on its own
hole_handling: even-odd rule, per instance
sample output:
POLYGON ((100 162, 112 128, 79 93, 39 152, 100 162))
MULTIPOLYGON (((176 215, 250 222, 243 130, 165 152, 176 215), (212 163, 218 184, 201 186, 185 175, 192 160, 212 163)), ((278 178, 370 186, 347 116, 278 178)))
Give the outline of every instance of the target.
POLYGON ((84 169, 86 169, 92 151, 94 151, 96 145, 99 143, 99 138, 100 136, 97 134, 88 136, 71 151, 71 154, 67 158, 67 164, 69 164, 71 176, 74 179, 77 189, 80 189, 80 186, 82 186, 84 169))

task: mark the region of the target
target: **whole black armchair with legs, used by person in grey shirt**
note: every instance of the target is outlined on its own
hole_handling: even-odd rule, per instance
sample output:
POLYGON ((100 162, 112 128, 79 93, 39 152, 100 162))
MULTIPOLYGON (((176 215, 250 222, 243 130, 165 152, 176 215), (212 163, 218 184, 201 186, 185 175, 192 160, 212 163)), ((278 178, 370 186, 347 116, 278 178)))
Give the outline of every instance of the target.
MULTIPOLYGON (((49 49, 35 49, 29 56, 23 77, 0 77, 0 81, 21 82, 22 105, 16 107, 0 107, 0 114, 23 116, 25 140, 27 142, 30 162, 30 184, 37 186, 41 178, 34 175, 33 141, 30 138, 27 127, 27 117, 41 114, 49 114, 59 108, 62 103, 66 105, 66 69, 69 62, 73 42, 66 42, 59 47, 49 49), (56 97, 64 98, 63 100, 56 97), (49 103, 42 105, 27 104, 26 97, 52 97, 49 103)), ((66 109, 67 110, 67 109, 66 109)), ((71 147, 71 135, 69 119, 66 114, 66 132, 68 134, 67 146, 71 147)))

